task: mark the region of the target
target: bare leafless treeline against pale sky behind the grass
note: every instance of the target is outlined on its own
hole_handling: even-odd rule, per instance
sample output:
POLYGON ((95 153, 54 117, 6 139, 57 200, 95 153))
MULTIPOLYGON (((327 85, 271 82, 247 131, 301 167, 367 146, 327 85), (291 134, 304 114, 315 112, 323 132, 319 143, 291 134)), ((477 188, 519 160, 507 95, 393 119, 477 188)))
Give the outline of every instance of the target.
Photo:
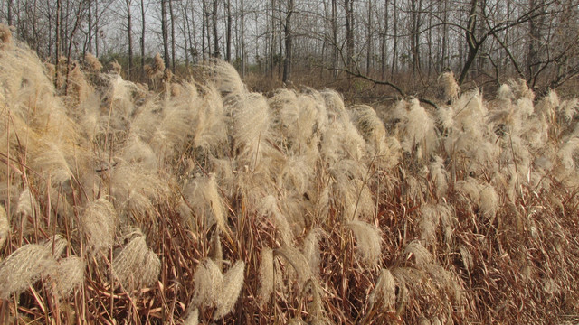
MULTIPOLYGON (((292 79, 357 76, 403 93, 452 70, 460 84, 525 79, 539 93, 579 74, 578 0, 8 0, 0 20, 43 60, 87 52, 142 78, 227 60, 292 79)), ((58 73, 58 72, 57 72, 58 73)))

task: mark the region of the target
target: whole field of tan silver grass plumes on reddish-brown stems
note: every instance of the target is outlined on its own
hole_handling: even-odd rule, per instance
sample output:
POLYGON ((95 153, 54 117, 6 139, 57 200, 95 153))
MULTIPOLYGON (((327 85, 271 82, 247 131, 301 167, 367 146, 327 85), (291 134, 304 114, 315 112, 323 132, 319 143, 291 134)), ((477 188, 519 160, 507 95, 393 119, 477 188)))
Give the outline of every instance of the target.
POLYGON ((0 322, 576 320, 578 100, 66 82, 3 32, 0 322))

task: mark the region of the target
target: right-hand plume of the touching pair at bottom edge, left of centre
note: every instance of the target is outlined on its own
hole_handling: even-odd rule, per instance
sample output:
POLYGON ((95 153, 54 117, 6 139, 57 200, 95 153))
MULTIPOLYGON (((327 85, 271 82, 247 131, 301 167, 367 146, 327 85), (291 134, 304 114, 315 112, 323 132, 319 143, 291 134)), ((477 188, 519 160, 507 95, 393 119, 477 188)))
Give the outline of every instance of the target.
POLYGON ((223 290, 215 303, 217 310, 214 313, 214 320, 218 320, 233 311, 235 302, 237 302, 239 294, 242 292, 244 271, 245 264, 240 260, 223 275, 223 290))

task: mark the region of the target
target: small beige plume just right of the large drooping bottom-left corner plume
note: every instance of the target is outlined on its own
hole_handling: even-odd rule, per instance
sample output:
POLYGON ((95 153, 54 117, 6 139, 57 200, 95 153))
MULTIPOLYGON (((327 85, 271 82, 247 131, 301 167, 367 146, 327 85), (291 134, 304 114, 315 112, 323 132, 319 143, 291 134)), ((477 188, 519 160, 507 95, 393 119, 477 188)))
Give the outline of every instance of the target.
POLYGON ((53 294, 67 297, 84 283, 84 263, 78 256, 64 258, 56 265, 53 277, 56 283, 53 294))

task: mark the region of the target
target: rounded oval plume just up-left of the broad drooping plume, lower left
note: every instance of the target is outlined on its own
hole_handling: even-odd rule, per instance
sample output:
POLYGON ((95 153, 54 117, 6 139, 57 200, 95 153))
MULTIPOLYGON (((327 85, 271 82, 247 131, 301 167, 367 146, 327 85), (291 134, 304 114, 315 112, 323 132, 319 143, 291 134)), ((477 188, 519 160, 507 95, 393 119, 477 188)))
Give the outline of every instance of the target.
POLYGON ((93 254, 112 246, 118 223, 117 211, 108 200, 89 203, 81 217, 81 228, 93 254))

